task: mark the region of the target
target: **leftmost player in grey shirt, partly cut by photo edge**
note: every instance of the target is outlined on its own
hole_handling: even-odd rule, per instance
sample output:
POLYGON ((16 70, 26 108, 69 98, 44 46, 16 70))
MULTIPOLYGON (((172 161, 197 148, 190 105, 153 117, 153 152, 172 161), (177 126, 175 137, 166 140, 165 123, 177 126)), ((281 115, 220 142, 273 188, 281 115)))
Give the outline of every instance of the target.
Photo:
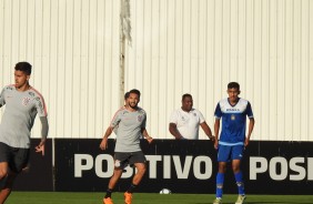
POLYGON ((0 125, 0 204, 6 202, 14 178, 28 164, 30 131, 37 114, 42 130, 36 152, 42 155, 49 129, 43 98, 29 84, 31 64, 19 62, 14 70, 16 84, 4 86, 0 94, 0 108, 6 105, 0 125))

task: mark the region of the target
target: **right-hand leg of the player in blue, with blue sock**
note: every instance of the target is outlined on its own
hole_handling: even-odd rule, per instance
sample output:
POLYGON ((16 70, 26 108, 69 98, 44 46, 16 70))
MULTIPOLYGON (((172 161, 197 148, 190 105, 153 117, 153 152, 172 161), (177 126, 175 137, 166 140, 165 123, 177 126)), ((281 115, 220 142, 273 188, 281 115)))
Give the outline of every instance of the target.
POLYGON ((238 194, 239 194, 238 201, 235 202, 236 204, 241 204, 245 200, 243 174, 240 169, 241 160, 243 157, 243 151, 244 151, 243 145, 233 146, 232 150, 232 170, 234 173, 235 182, 238 185, 238 194))

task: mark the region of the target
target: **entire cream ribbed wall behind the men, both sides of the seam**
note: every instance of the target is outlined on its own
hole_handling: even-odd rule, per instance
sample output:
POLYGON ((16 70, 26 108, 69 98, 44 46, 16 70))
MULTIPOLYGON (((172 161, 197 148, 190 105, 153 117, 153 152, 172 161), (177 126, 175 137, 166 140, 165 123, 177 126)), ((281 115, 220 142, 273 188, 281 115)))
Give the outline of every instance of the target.
MULTIPOLYGON (((130 3, 125 90, 142 91, 152 136, 172 139, 169 116, 186 92, 213 128, 216 102, 238 81, 254 110, 254 140, 313 141, 312 0, 130 3)), ((50 136, 101 137, 119 108, 120 1, 0 0, 0 86, 13 82, 16 62, 30 61, 50 136)))

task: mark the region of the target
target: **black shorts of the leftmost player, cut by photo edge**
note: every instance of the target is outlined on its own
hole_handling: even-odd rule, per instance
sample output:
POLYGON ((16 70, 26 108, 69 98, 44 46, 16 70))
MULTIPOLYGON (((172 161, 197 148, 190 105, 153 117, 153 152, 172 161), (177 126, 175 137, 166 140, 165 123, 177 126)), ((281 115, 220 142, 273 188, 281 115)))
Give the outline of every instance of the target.
POLYGON ((0 162, 7 162, 14 173, 20 173, 27 166, 29 153, 29 149, 12 147, 0 142, 0 162))

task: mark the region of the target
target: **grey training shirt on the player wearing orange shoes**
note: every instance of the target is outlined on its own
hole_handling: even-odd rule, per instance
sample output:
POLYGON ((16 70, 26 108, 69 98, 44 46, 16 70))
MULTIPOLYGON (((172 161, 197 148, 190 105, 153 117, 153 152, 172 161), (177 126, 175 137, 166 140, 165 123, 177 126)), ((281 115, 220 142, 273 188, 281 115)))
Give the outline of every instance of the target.
POLYGON ((117 132, 115 152, 139 152, 141 130, 145 129, 147 114, 141 108, 131 112, 120 109, 111 121, 111 126, 119 125, 117 132))

